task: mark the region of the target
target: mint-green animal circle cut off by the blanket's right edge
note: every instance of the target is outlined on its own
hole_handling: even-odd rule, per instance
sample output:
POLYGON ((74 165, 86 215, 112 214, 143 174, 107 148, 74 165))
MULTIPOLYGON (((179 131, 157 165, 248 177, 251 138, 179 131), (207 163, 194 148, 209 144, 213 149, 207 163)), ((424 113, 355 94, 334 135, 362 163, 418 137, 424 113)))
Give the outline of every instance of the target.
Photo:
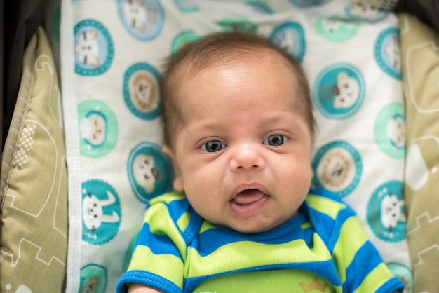
POLYGON ((387 104, 374 123, 374 137, 379 149, 392 158, 405 158, 405 109, 401 102, 387 104))

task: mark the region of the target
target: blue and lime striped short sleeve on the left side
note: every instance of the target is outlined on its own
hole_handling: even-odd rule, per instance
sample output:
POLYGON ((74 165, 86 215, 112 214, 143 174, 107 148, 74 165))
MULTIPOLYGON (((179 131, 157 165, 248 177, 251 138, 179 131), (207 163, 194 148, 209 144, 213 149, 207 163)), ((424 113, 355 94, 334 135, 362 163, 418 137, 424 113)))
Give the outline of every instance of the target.
POLYGON ((144 214, 144 223, 133 248, 128 270, 119 279, 117 292, 130 283, 155 287, 163 292, 182 292, 187 242, 177 221, 188 217, 187 200, 156 198, 144 214), (163 266, 166 264, 166 266, 163 266))

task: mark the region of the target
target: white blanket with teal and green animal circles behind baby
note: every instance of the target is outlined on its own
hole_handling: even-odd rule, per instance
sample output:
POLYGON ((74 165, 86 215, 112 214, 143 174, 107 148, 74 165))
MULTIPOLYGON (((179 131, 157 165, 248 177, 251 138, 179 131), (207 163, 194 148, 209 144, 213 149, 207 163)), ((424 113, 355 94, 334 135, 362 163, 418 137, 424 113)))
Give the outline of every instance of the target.
POLYGON ((302 62, 318 125, 313 187, 351 205, 391 270, 410 283, 395 15, 347 0, 66 0, 67 292, 114 292, 147 201, 172 186, 161 153, 162 58, 230 29, 269 36, 302 62))

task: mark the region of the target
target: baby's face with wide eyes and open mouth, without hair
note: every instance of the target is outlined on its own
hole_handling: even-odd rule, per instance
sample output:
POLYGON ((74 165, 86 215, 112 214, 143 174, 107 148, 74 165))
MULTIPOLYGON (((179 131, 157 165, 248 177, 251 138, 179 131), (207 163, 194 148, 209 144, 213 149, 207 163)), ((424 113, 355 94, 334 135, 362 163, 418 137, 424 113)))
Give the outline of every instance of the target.
POLYGON ((284 62, 210 68, 179 88, 185 123, 171 154, 175 188, 210 222, 267 231, 293 217, 309 191, 312 135, 284 62))

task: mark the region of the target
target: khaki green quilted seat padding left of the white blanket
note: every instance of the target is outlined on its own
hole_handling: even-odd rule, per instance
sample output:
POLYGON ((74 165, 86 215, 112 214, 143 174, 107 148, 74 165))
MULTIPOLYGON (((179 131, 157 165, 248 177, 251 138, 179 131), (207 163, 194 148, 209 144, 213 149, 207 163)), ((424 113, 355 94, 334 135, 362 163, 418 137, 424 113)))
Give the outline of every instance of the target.
POLYGON ((60 88, 40 27, 25 52, 1 166, 2 292, 64 291, 67 217, 60 88))

